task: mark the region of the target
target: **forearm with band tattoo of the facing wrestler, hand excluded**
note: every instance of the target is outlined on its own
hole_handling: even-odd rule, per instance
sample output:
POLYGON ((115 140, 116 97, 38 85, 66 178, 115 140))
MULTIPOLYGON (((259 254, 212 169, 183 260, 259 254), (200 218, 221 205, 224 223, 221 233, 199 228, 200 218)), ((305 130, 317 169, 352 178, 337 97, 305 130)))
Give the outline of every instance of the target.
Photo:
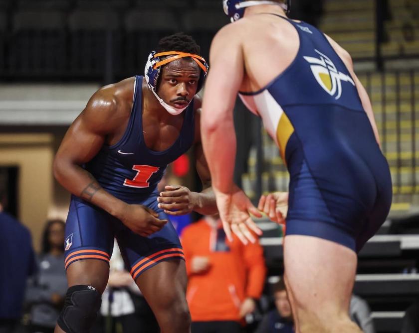
POLYGON ((126 204, 106 192, 92 174, 78 165, 67 165, 64 170, 59 163, 54 164, 54 176, 67 191, 103 209, 112 216, 120 215, 126 204))

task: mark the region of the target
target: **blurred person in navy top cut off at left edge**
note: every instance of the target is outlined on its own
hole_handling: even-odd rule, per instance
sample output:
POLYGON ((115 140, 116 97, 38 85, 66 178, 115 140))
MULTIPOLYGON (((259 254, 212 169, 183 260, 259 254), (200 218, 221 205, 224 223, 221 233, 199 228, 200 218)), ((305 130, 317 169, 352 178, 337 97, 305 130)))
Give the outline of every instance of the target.
POLYGON ((3 210, 6 190, 0 182, 0 333, 12 333, 22 315, 25 285, 36 271, 26 227, 3 210))

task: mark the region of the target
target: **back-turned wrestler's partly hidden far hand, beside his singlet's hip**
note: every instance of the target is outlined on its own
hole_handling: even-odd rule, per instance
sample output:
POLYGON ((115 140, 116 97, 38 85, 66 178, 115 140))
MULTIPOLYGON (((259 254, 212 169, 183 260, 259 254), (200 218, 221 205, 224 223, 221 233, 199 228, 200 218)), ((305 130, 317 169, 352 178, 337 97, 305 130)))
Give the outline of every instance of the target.
POLYGON ((288 192, 275 192, 267 196, 261 196, 259 211, 265 213, 269 219, 278 224, 285 224, 288 213, 288 192))

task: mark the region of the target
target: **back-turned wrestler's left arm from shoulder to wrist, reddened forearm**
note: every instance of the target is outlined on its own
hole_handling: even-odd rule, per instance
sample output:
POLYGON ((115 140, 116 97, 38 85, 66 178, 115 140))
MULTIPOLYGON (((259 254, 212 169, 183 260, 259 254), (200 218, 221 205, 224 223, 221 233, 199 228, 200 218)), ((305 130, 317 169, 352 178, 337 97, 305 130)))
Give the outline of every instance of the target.
POLYGON ((231 25, 222 28, 211 44, 210 63, 203 102, 201 133, 212 176, 212 187, 231 193, 236 137, 233 108, 243 79, 241 45, 231 38, 231 25))

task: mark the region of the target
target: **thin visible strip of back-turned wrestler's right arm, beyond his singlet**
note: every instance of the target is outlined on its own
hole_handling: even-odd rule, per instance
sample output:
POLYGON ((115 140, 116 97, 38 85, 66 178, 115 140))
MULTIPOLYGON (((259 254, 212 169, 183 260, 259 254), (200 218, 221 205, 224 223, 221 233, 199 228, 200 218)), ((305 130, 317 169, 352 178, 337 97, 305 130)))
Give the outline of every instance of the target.
POLYGON ((333 49, 336 51, 336 53, 339 55, 339 57, 342 59, 342 61, 345 63, 346 68, 348 69, 349 73, 351 74, 352 78, 354 79, 355 85, 358 90, 359 97, 362 102, 362 106, 367 113, 368 119, 370 119, 371 126, 373 127, 374 135, 376 137, 376 140, 378 144, 380 145, 380 137, 378 134, 377 124, 375 122, 374 118, 374 112, 373 107, 371 105, 370 98, 368 97, 367 91, 365 90, 362 83, 359 81, 358 77, 356 76, 354 72, 354 65, 352 63, 351 55, 346 51, 344 48, 342 48, 338 43, 336 43, 332 38, 327 36, 327 39, 329 40, 330 44, 332 45, 333 49))

